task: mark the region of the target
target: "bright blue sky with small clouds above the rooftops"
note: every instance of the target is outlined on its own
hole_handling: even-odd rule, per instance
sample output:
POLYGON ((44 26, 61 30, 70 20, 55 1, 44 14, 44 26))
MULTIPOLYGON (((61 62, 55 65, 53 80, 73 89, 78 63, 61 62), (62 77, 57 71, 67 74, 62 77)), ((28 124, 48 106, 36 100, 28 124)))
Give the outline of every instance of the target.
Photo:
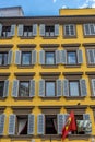
POLYGON ((17 5, 25 15, 58 15, 61 8, 95 8, 95 0, 0 0, 0 8, 17 5))

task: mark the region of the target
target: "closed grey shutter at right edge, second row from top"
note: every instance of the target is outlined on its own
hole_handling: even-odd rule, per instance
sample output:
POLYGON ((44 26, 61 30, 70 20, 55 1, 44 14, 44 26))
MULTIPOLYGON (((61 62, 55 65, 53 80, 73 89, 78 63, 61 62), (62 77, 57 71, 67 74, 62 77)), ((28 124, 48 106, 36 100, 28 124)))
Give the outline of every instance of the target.
POLYGON ((95 49, 87 49, 87 60, 90 64, 95 64, 95 49))

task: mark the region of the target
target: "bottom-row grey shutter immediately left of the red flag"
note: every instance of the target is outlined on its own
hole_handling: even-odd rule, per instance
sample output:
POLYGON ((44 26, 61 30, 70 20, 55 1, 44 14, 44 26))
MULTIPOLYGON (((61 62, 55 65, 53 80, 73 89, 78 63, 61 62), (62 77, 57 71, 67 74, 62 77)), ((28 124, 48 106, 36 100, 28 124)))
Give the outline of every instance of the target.
POLYGON ((58 134, 62 133, 62 128, 64 126, 64 117, 63 114, 57 115, 57 121, 58 121, 58 134))

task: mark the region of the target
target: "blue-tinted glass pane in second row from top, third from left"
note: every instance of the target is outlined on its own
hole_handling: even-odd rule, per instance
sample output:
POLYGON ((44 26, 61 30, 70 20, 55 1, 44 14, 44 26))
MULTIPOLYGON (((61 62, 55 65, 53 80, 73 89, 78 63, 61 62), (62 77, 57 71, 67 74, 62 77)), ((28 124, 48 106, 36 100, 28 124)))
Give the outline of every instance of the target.
POLYGON ((55 52, 46 52, 46 64, 55 64, 55 52))

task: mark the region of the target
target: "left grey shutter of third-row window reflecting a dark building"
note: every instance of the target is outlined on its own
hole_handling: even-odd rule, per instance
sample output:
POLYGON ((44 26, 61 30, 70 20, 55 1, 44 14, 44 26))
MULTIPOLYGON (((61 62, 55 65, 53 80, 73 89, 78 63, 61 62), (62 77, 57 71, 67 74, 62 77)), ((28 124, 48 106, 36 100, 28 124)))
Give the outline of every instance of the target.
POLYGON ((19 96, 19 80, 14 80, 13 81, 12 96, 13 97, 17 97, 19 96))

